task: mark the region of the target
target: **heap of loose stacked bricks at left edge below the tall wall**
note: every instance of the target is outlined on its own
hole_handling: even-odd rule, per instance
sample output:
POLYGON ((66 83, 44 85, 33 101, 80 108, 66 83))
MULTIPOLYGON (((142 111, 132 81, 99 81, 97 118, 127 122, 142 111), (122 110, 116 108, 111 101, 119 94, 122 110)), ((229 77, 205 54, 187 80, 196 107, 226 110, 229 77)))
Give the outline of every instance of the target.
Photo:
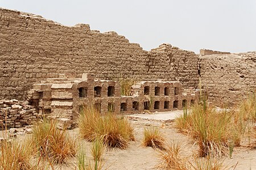
POLYGON ((38 114, 31 105, 20 103, 18 100, 0 101, 0 128, 21 128, 31 125, 38 114))

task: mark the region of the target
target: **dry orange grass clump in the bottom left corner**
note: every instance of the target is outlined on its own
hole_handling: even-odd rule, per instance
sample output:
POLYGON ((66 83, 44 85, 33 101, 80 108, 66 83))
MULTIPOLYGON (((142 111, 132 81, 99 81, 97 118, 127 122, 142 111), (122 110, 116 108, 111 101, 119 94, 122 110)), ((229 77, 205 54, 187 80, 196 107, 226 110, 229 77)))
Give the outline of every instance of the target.
POLYGON ((31 143, 28 141, 1 141, 0 143, 0 169, 32 169, 35 168, 31 163, 32 158, 31 143))

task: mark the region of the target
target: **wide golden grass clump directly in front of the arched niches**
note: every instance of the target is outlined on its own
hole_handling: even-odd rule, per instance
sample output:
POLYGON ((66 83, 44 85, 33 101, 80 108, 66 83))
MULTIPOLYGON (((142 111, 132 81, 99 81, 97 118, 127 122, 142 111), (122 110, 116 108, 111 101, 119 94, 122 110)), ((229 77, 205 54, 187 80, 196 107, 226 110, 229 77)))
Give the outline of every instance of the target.
POLYGON ((80 112, 79 131, 82 138, 94 141, 99 138, 107 147, 126 148, 134 141, 134 130, 125 118, 114 113, 100 114, 94 107, 85 107, 80 112))

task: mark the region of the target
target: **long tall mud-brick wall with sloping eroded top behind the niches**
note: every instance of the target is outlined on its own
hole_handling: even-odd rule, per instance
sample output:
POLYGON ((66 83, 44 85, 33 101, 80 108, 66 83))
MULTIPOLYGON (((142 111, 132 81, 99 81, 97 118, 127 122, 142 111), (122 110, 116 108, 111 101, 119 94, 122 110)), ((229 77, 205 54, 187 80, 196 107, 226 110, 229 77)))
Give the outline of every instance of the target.
MULTIPOLYGON (((32 84, 60 73, 97 78, 180 80, 198 84, 197 56, 177 48, 147 52, 115 32, 66 27, 42 16, 0 8, 0 99, 24 99, 32 84)), ((167 45, 168 46, 168 45, 167 45)))

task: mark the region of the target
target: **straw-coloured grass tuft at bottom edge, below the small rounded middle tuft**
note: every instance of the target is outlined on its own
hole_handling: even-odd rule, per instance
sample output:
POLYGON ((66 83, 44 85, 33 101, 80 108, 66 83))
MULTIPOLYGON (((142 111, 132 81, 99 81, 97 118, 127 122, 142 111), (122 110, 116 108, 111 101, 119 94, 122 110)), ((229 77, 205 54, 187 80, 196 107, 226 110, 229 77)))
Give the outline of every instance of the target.
POLYGON ((190 165, 183 156, 180 155, 179 143, 171 143, 165 151, 160 151, 162 162, 158 165, 159 169, 188 170, 190 165))

